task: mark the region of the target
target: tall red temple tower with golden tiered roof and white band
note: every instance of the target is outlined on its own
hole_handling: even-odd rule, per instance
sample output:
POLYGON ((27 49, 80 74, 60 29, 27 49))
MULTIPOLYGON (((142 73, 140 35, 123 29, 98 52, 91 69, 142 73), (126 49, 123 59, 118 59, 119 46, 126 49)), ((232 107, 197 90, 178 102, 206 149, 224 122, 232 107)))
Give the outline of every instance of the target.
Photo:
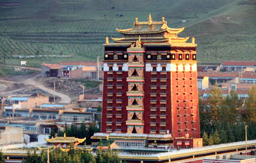
POLYGON ((104 44, 102 132, 200 138, 195 39, 138 18, 104 44))

